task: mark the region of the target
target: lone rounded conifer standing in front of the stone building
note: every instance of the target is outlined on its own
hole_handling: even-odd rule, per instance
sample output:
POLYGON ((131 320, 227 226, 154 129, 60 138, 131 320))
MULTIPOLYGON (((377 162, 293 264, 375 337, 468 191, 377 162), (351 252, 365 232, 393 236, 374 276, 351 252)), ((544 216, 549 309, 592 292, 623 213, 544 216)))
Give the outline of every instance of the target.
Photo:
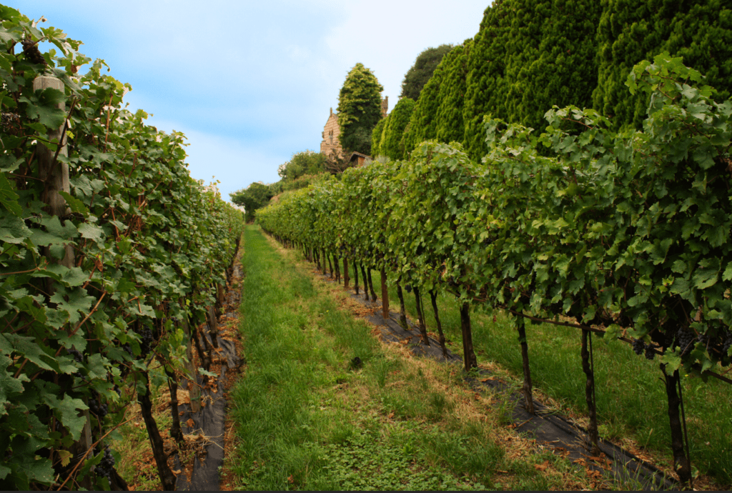
POLYGON ((363 64, 348 72, 338 94, 339 138, 346 152, 371 154, 371 132, 381 119, 381 91, 384 87, 363 64))

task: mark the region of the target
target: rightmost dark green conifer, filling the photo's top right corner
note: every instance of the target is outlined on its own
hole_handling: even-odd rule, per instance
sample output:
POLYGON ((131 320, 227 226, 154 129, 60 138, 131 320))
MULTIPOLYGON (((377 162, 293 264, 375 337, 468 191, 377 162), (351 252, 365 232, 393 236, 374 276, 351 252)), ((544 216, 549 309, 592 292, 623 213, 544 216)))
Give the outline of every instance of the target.
POLYGON ((649 95, 632 96, 625 81, 635 64, 664 51, 706 75, 720 99, 730 97, 732 0, 603 0, 602 7, 593 103, 616 128, 642 126, 649 95))

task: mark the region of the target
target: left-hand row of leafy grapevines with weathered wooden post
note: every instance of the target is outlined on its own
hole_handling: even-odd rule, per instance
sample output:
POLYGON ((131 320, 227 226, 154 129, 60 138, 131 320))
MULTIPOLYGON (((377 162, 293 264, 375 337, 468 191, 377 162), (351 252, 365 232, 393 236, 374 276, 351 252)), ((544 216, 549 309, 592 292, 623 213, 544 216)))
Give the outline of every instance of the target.
POLYGON ((136 399, 172 489, 150 388, 195 381, 192 340, 210 361, 215 334, 197 327, 242 214, 190 177, 184 135, 125 109, 130 86, 80 42, 9 7, 0 20, 0 486, 127 489, 110 443, 136 399))

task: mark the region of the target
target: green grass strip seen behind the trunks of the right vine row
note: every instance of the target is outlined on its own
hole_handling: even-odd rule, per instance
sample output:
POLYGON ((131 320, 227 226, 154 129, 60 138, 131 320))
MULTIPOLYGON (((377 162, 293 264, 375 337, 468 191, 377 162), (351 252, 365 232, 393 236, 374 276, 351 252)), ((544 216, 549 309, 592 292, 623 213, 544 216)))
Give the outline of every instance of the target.
MULTIPOLYGON (((373 283, 381 277, 373 271, 373 283)), ((413 294, 405 294, 411 320, 417 309, 413 294)), ((422 296, 427 328, 436 331, 429 296, 422 296)), ((396 288, 389 288, 392 309, 398 311, 396 288)), ((449 349, 462 355, 460 312, 453 296, 438 298, 440 320, 449 349)), ((514 319, 501 311, 472 316, 473 342, 478 361, 493 361, 523 378, 518 333, 514 319), (495 315, 495 321, 494 321, 495 315)), ((585 375, 580 360, 580 331, 559 325, 526 325, 534 387, 542 389, 562 407, 586 415, 585 375)), ((594 365, 600 434, 618 440, 632 437, 638 445, 671 461, 671 432, 665 388, 658 361, 635 355, 630 345, 595 337, 594 365)), ((710 378, 684 375, 684 407, 690 438, 692 466, 716 479, 719 486, 732 483, 732 385, 710 378)))

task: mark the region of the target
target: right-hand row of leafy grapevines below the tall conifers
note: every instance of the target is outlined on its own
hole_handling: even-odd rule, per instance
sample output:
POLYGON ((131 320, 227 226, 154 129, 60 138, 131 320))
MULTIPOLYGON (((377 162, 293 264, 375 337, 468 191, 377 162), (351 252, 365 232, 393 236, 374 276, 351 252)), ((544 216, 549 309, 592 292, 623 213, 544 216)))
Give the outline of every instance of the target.
POLYGON ((689 482, 679 369, 732 382, 732 102, 701 80, 658 56, 628 78, 650 95, 643 131, 575 107, 550 110, 541 135, 486 117, 482 163, 427 141, 408 160, 282 197, 258 221, 315 260, 332 252, 392 273, 400 295, 460 298, 466 369, 468 307, 516 315, 529 405, 523 320, 581 329, 595 445, 591 335, 632 343, 659 361, 674 467, 689 482))

